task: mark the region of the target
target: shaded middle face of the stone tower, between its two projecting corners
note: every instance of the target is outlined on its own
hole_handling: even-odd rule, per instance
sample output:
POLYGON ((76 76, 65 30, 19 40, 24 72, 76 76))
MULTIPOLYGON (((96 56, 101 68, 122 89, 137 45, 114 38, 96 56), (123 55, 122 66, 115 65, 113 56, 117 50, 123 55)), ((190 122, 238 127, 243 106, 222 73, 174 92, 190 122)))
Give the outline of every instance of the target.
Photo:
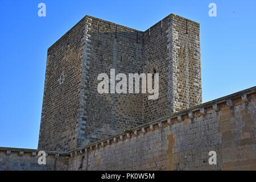
POLYGON ((141 94, 110 94, 110 82, 109 94, 97 90, 100 73, 110 78, 110 69, 115 69, 115 75, 124 73, 128 78, 129 73, 142 72, 143 32, 92 16, 86 16, 85 26, 89 42, 83 55, 86 70, 82 83, 81 146, 143 123, 141 94))

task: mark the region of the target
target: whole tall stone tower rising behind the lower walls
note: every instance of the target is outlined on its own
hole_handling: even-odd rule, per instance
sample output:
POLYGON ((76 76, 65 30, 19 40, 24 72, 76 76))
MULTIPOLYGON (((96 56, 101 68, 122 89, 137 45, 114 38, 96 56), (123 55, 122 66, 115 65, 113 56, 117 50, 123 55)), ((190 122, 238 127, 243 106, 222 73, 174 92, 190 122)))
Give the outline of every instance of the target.
POLYGON ((201 104, 199 23, 171 14, 146 31, 86 15, 48 48, 38 148, 71 151, 201 104), (100 73, 159 73, 159 97, 100 94, 100 73))

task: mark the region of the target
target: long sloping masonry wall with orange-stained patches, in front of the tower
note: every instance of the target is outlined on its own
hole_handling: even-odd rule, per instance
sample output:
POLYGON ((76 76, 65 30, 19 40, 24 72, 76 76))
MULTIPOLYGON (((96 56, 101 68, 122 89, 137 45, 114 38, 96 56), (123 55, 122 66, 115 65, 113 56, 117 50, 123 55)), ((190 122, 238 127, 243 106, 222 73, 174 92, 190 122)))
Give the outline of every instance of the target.
POLYGON ((72 152, 69 170, 256 170, 255 104, 254 87, 191 107, 72 152))

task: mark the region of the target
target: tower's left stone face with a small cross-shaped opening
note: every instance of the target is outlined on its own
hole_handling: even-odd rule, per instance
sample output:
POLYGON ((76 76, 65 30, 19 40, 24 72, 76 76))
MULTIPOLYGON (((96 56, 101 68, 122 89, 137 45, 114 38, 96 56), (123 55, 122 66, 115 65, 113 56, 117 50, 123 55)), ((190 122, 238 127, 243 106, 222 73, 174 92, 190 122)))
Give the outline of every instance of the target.
POLYGON ((47 52, 39 144, 41 150, 77 148, 85 18, 47 52), (59 79, 63 74, 63 83, 59 79))

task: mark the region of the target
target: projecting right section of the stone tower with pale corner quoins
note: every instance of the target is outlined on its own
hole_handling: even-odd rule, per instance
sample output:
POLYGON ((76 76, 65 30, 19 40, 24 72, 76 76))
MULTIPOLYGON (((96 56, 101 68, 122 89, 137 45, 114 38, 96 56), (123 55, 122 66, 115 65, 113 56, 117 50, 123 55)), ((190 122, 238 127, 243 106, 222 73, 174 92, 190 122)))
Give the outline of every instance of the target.
POLYGON ((201 104, 199 23, 171 14, 144 31, 143 38, 143 72, 159 73, 158 100, 143 95, 143 121, 201 104))

